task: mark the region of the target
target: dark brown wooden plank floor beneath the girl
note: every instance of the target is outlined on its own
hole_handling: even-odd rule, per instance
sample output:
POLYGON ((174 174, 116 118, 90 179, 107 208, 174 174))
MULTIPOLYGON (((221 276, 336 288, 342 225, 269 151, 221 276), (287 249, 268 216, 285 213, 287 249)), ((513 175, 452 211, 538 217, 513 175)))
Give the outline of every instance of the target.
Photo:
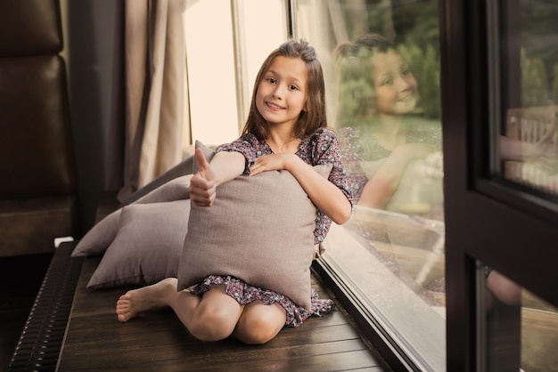
MULTIPOLYGON (((170 310, 119 323, 115 303, 127 288, 88 290, 99 262, 87 258, 79 278, 59 371, 387 371, 343 311, 283 328, 264 345, 234 339, 204 343, 191 336, 170 310)), ((313 279, 320 297, 331 298, 313 279)))

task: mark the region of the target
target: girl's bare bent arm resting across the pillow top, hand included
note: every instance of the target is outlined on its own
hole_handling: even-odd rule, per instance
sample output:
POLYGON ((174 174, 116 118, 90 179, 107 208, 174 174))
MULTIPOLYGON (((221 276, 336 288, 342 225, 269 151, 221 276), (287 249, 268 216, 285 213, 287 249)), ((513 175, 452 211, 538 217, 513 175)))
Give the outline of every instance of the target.
POLYGON ((342 224, 349 220, 352 206, 345 194, 295 154, 280 153, 260 157, 250 166, 250 174, 281 169, 291 172, 312 202, 333 222, 342 224))

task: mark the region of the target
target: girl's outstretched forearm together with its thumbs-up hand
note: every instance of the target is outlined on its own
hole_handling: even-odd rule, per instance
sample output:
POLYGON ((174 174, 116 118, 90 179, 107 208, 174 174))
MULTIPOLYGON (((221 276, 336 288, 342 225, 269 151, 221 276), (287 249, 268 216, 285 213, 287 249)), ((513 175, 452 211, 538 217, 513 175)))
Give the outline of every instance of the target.
POLYGON ((211 206, 215 200, 217 186, 231 181, 244 171, 246 159, 240 152, 221 151, 211 159, 210 164, 201 149, 196 149, 194 157, 199 167, 190 181, 190 199, 197 206, 211 206))

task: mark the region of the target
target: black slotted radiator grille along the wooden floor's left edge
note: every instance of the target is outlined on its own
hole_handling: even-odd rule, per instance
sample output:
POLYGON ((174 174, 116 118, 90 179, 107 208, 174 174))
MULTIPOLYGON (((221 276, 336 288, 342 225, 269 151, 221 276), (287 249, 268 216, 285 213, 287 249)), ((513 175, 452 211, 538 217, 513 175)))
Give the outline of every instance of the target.
POLYGON ((56 369, 83 264, 83 257, 70 256, 73 247, 63 243, 53 255, 8 371, 56 369))

